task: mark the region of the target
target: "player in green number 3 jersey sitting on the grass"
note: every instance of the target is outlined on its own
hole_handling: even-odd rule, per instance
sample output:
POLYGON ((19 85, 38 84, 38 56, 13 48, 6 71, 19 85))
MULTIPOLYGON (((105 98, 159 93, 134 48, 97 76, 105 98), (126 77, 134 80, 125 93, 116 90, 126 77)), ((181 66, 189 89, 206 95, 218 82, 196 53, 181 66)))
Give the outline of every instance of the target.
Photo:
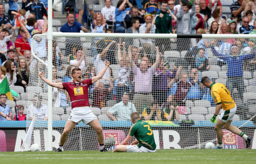
POLYGON ((141 117, 138 112, 133 112, 131 114, 131 120, 134 125, 130 128, 130 131, 121 142, 120 145, 115 147, 114 151, 117 152, 155 152, 156 143, 154 139, 154 134, 151 126, 147 122, 141 121, 141 117), (136 140, 132 142, 131 145, 126 145, 135 136, 136 140))

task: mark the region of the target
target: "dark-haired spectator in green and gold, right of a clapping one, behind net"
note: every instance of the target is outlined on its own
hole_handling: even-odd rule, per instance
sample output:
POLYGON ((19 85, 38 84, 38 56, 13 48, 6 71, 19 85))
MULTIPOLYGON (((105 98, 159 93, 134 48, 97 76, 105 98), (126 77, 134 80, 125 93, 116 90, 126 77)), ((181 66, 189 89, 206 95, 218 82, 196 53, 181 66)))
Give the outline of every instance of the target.
POLYGON ((167 101, 161 106, 161 118, 163 121, 179 120, 179 106, 173 95, 169 95, 167 101))

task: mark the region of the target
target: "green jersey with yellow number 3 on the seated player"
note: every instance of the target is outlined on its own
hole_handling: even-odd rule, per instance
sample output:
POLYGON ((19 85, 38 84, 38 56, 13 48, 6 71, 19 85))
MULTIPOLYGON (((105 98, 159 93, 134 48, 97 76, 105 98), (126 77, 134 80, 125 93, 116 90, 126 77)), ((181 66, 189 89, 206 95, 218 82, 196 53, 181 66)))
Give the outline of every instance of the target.
POLYGON ((156 149, 154 134, 151 126, 147 122, 143 122, 141 120, 136 121, 136 123, 130 128, 128 135, 135 136, 139 141, 139 148, 143 146, 151 150, 156 149))

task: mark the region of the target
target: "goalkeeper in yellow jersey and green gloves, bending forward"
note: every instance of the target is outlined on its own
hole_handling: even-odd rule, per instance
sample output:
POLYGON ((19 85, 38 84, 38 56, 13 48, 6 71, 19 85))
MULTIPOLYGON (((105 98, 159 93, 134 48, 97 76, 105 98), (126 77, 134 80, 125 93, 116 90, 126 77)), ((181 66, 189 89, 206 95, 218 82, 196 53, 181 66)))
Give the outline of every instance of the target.
POLYGON ((223 147, 222 145, 223 132, 221 129, 222 127, 231 131, 232 133, 235 133, 241 136, 245 140, 246 148, 248 148, 250 146, 252 138, 245 135, 245 133, 243 133, 240 129, 238 129, 234 125, 231 125, 233 116, 236 113, 236 103, 231 98, 230 91, 225 87, 225 85, 221 83, 213 83, 210 80, 210 78, 207 76, 202 77, 201 83, 205 87, 211 88, 211 96, 213 97, 216 103, 215 113, 211 118, 212 123, 217 122, 214 128, 217 134, 218 145, 215 147, 215 149, 221 149, 223 147), (221 111, 221 116, 219 117, 219 120, 216 120, 217 115, 219 114, 220 111, 221 111))

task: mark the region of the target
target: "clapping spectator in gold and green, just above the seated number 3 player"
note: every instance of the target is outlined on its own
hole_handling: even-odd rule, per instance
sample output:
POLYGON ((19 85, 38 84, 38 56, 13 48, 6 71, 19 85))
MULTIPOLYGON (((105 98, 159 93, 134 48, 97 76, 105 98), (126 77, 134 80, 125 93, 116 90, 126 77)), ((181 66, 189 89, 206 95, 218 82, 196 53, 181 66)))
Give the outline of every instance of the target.
POLYGON ((157 102, 152 102, 149 106, 143 107, 142 120, 158 120, 161 121, 161 111, 157 102))

